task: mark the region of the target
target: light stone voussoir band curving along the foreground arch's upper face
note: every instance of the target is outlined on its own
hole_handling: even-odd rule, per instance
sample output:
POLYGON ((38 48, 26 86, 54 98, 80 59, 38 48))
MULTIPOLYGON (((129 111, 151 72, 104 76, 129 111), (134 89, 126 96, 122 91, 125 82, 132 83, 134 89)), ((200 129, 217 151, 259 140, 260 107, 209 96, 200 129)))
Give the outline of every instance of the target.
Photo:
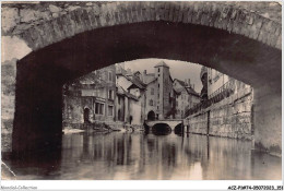
MULTIPOLYGON (((54 3, 56 4, 56 2, 54 3)), ((31 8, 10 5, 5 10, 40 10, 40 5, 45 4, 31 8)), ((61 7, 63 5, 61 4, 61 7)), ((61 10, 55 14, 50 9, 50 12, 43 13, 44 19, 40 15, 32 17, 28 23, 21 22, 21 17, 19 19, 20 15, 16 13, 12 14, 15 17, 13 20, 15 23, 13 25, 4 23, 2 32, 4 35, 16 35, 23 38, 33 50, 37 50, 99 27, 165 21, 220 28, 282 49, 281 21, 264 17, 263 14, 257 12, 258 10, 247 10, 226 2, 93 2, 61 10), (52 16, 48 17, 47 15, 52 16)), ((2 14, 8 13, 9 11, 4 11, 2 14)), ((5 19, 5 15, 2 17, 5 19)), ((11 21, 11 15, 7 15, 7 17, 9 20, 3 20, 3 22, 11 21)))

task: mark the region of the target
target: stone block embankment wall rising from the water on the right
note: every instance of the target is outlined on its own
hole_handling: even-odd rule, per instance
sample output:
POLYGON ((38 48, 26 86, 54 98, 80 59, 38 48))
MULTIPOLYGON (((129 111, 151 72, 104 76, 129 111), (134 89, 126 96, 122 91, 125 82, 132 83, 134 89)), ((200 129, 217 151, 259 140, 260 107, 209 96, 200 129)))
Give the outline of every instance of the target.
POLYGON ((188 117, 191 133, 252 140, 252 92, 245 88, 188 117))

